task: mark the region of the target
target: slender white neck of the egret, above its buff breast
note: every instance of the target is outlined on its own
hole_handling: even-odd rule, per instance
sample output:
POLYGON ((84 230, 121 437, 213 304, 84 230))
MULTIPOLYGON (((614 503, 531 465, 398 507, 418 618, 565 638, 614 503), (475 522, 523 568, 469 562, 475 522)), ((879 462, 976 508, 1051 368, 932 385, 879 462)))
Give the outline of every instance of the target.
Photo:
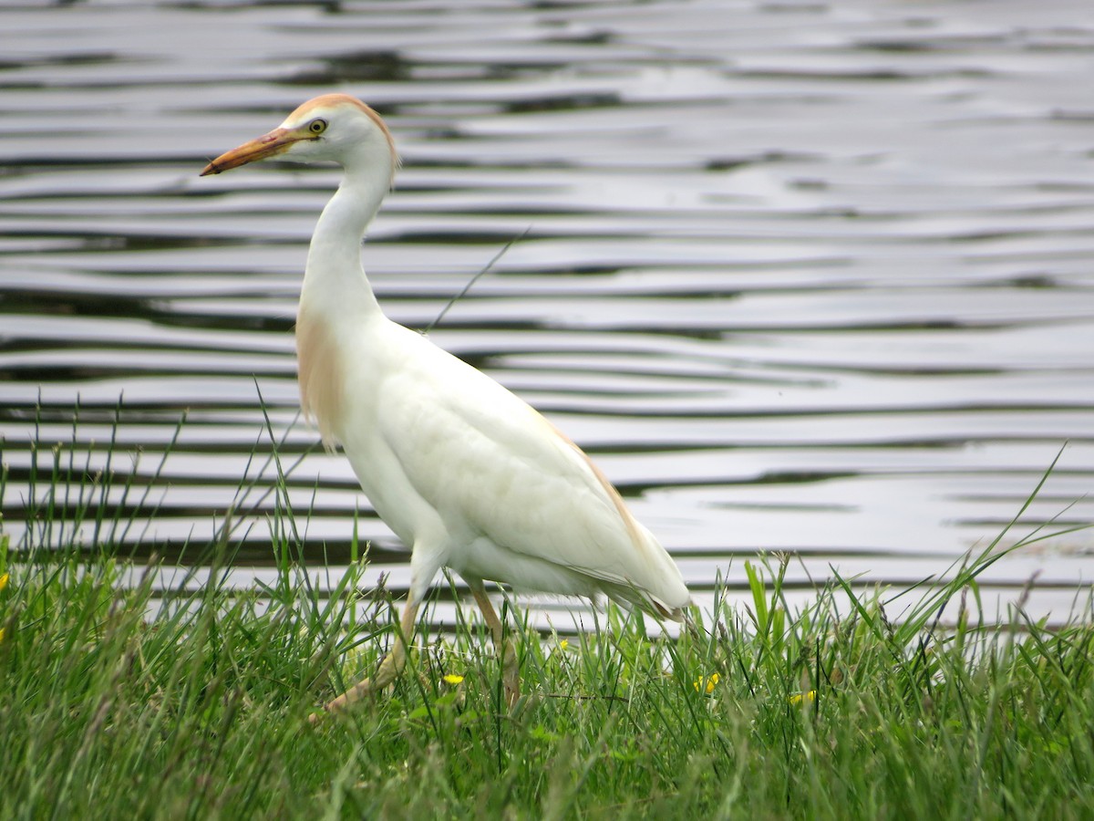
POLYGON ((391 184, 391 171, 349 165, 315 226, 307 250, 301 309, 360 319, 380 312, 361 267, 361 240, 391 184))

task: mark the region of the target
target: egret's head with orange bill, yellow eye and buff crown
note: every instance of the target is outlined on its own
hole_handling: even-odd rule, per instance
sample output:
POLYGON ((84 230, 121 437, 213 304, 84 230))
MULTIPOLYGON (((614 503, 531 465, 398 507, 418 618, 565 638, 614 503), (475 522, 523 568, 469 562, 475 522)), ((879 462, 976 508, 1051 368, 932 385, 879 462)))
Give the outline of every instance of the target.
POLYGON ((380 166, 395 173, 398 154, 391 131, 372 108, 348 94, 309 100, 269 134, 233 148, 206 165, 201 176, 280 157, 296 162, 380 166))

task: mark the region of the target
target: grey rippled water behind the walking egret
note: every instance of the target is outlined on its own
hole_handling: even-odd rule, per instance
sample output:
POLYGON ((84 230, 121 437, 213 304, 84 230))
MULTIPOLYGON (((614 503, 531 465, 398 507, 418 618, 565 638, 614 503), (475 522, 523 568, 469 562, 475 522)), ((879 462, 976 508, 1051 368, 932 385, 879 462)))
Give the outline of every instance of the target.
MULTIPOLYGON (((1015 533, 1094 520, 1087 3, 27 2, 0 30, 16 537, 35 429, 79 465, 115 435, 112 502, 133 509, 136 473, 159 504, 127 539, 168 555, 244 476, 270 510, 260 391, 311 558, 345 560, 360 506, 374 571, 406 583, 348 465, 293 425, 295 298, 336 172, 197 176, 331 90, 405 159, 364 247, 385 309, 429 325, 528 229, 431 338, 590 451, 700 598, 772 551, 801 559, 801 595, 833 566, 941 573, 1064 442, 1015 533)), ((269 564, 261 516, 236 534, 269 564)), ((986 597, 1039 571, 1031 608, 1062 616, 1092 551, 1024 551, 986 597)))

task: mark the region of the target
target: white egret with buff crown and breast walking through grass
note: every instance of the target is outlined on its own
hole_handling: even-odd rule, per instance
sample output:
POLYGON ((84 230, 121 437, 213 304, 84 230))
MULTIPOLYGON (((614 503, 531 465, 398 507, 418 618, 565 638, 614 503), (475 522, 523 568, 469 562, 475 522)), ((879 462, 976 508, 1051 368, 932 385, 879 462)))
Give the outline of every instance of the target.
POLYGON ((516 659, 502 649, 484 580, 604 593, 680 621, 690 597, 679 569, 581 449, 492 379, 381 311, 361 267, 365 228, 398 165, 380 116, 346 94, 324 94, 201 175, 271 157, 334 162, 345 172, 307 252, 296 317, 301 405, 324 442, 341 446, 376 512, 411 550, 392 652, 325 708, 395 679, 442 567, 466 580, 482 610, 503 654, 510 702, 519 693, 516 659))

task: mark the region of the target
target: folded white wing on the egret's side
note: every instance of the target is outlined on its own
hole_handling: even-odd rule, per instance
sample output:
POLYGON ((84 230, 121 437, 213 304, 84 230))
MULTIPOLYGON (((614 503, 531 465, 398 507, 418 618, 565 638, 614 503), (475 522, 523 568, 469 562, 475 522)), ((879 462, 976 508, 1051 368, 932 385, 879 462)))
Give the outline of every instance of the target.
MULTIPOLYGON (((637 589, 665 611, 688 603, 672 558, 577 446, 490 378, 408 337, 410 356, 381 385, 380 432, 454 550, 486 537, 612 594, 637 589)), ((486 578, 512 581, 503 568, 486 578)))

